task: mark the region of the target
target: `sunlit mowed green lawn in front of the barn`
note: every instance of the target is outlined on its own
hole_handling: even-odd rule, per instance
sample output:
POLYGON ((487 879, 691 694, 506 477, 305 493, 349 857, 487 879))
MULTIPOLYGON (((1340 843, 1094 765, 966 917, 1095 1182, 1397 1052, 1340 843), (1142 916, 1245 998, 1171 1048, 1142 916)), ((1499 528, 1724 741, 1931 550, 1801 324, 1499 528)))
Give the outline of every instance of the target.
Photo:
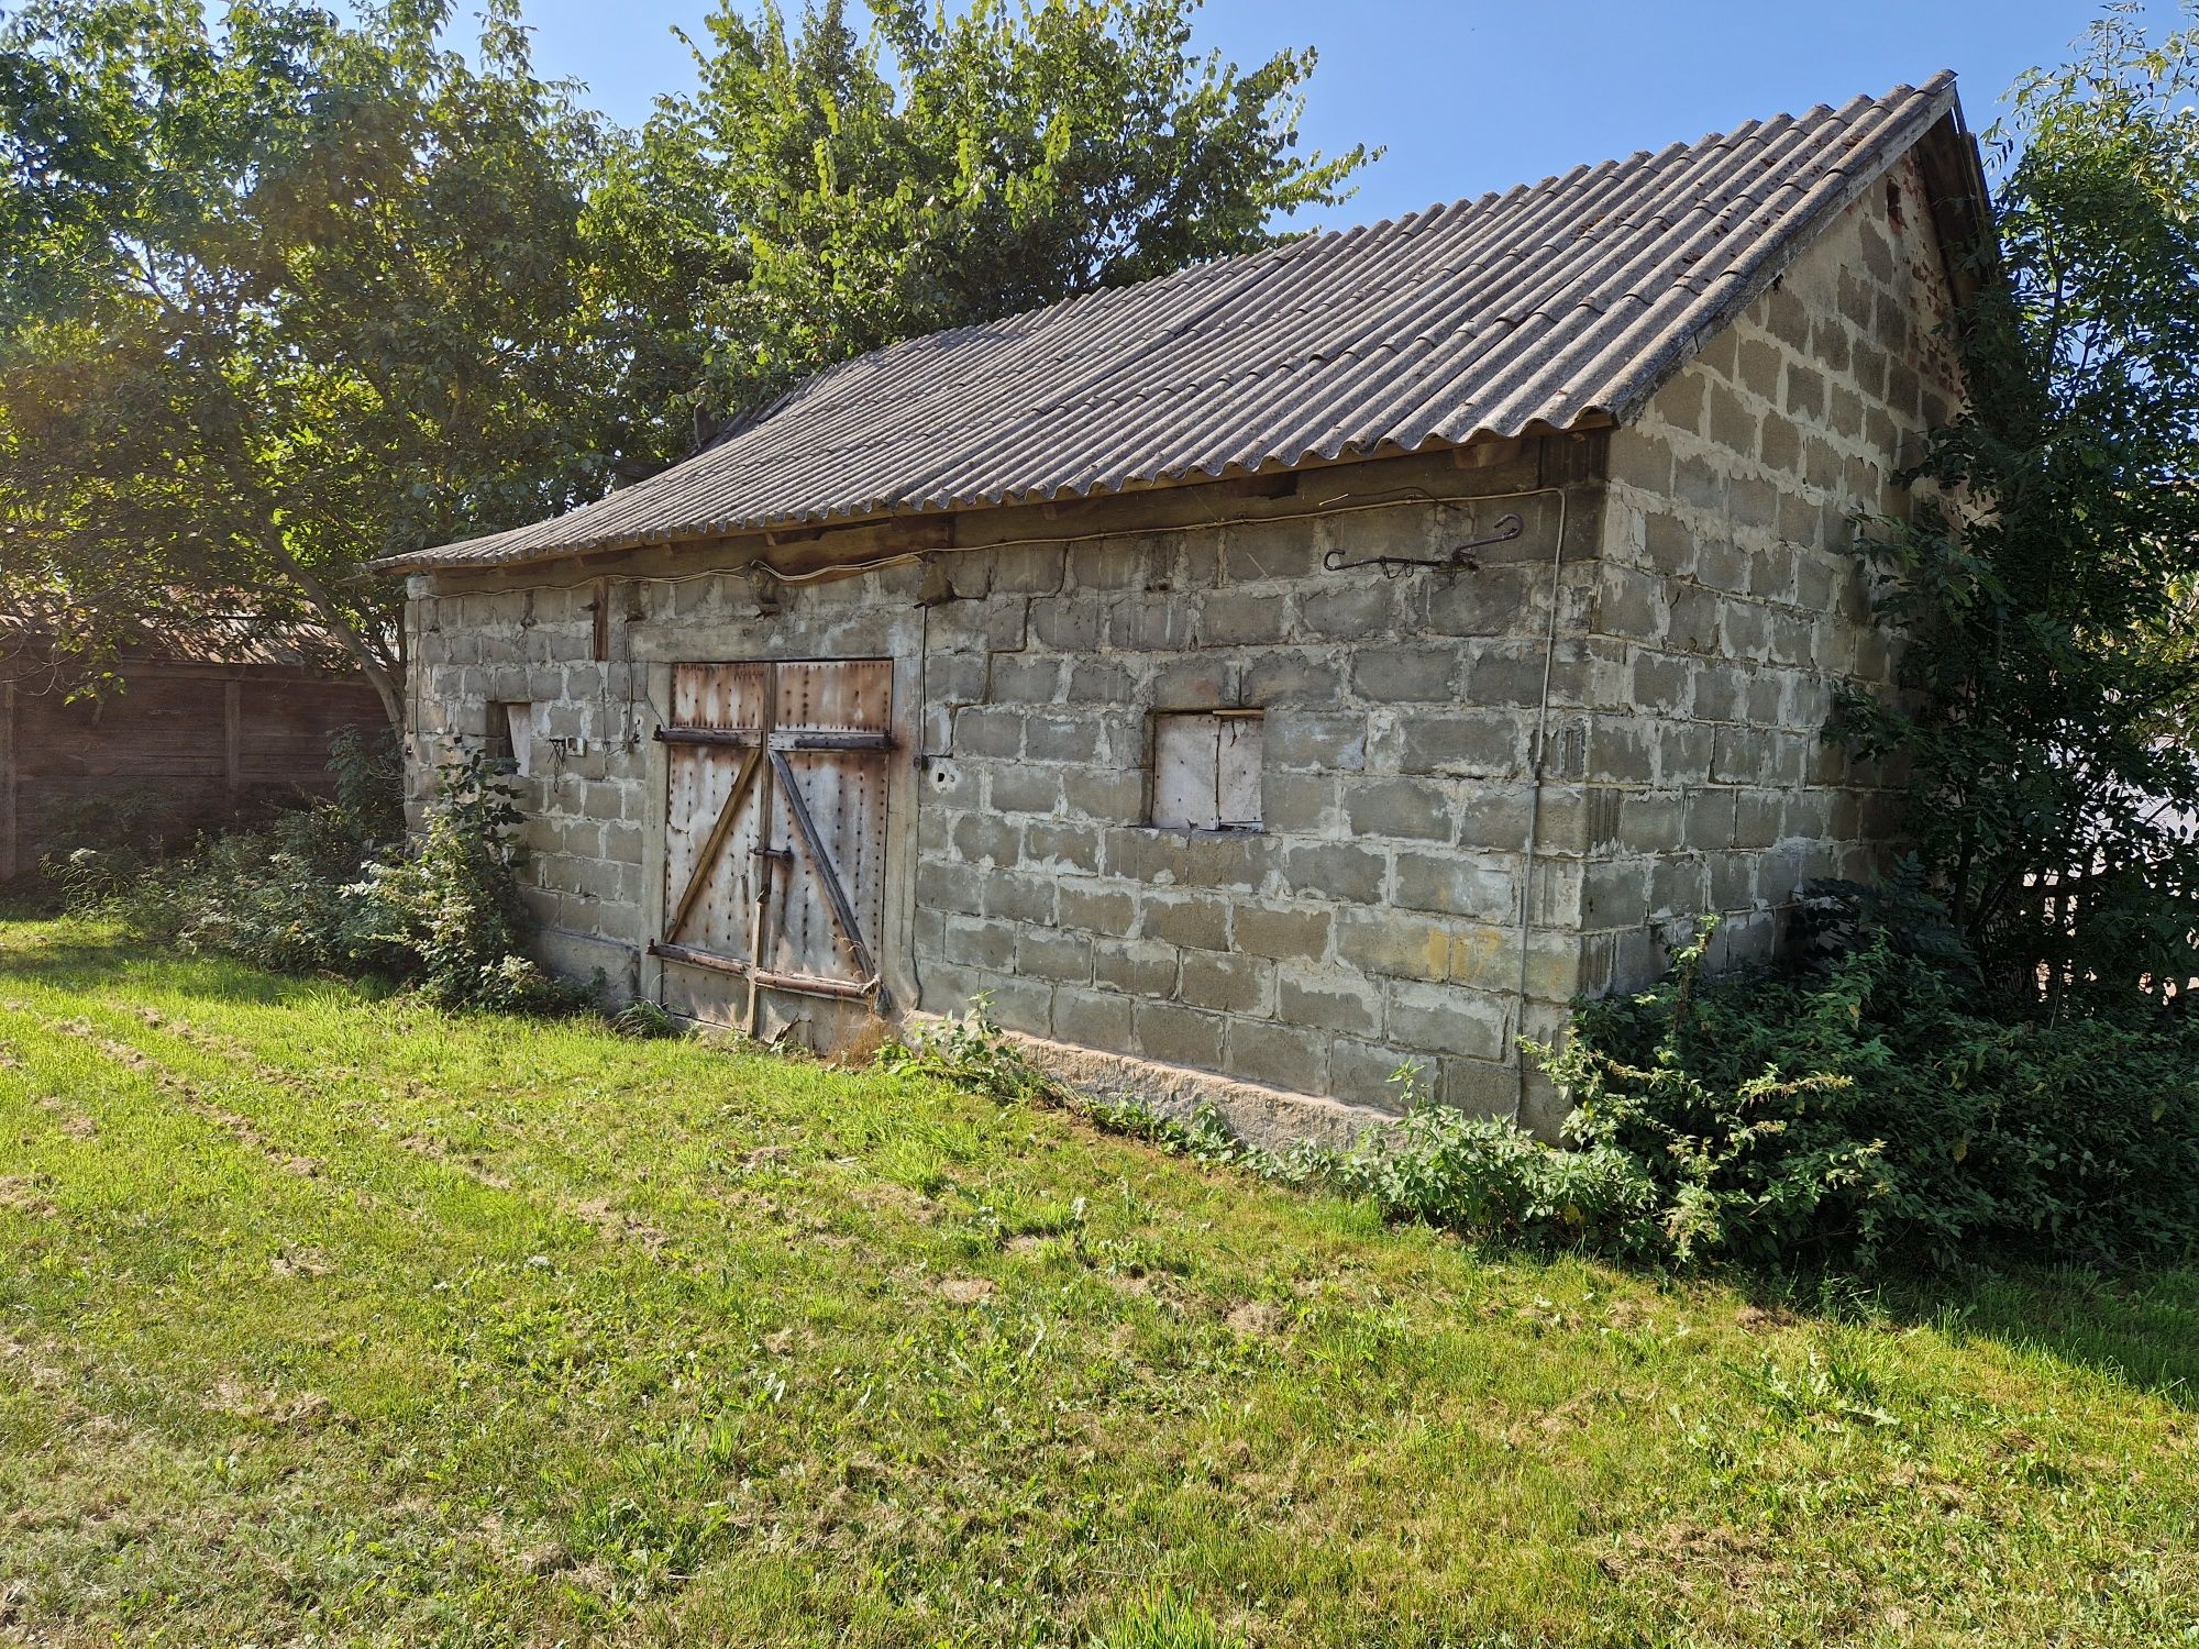
POLYGON ((2199 1277, 1781 1308, 0 926, 0 1640, 2199 1642, 2199 1277))

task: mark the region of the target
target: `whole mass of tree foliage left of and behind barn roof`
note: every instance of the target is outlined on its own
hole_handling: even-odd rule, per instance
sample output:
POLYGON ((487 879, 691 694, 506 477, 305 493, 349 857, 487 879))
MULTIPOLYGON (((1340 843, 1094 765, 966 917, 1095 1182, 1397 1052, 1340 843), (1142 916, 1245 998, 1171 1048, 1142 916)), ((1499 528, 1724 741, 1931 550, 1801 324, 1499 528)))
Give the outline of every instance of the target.
POLYGON ((798 26, 730 0, 642 132, 543 84, 517 0, 0 20, 0 605, 112 653, 310 618, 398 715, 365 561, 598 497, 695 424, 917 332, 1262 246, 1311 53, 1190 53, 1196 0, 798 26))

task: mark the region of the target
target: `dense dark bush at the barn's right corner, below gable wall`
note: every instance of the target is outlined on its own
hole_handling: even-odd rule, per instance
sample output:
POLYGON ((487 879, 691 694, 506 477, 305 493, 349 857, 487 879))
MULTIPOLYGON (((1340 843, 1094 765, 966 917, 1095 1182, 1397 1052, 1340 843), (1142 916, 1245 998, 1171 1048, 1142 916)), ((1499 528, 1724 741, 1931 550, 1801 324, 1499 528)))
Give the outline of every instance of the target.
POLYGON ((1944 930, 1827 904, 1845 943, 1585 1003, 1568 1137, 1654 1187, 1673 1260, 2140 1260, 2199 1240, 2199 1033, 2181 1014, 2001 1020, 1944 930))

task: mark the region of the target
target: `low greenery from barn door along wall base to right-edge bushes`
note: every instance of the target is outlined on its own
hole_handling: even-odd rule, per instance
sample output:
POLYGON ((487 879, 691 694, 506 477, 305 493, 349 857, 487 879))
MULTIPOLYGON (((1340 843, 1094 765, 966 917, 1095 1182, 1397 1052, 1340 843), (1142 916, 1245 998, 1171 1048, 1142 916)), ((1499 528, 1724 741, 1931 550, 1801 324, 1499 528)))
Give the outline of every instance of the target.
POLYGON ((1812 906, 1794 965, 1711 976, 1704 923, 1654 989, 1579 1005, 1563 1051, 1535 1049, 1574 1099, 1563 1148, 1432 1106, 1405 1069, 1396 1126, 1350 1150, 1260 1150, 1209 1108, 1174 1121, 1073 1095, 983 1005, 882 1058, 1390 1218, 1649 1264, 1869 1273, 2199 1244, 2199 1027, 1999 1020, 1913 888, 1821 888, 1812 906))

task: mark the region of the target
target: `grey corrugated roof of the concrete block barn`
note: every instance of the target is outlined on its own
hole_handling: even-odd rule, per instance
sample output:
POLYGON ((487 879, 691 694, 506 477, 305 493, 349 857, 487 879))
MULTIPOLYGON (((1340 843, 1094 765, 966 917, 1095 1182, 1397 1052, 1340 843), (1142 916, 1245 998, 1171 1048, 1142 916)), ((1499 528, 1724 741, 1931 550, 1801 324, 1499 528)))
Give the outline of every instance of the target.
POLYGON ((1625 420, 1951 112, 1942 73, 910 339, 596 503, 383 565, 1089 497, 1625 420))

